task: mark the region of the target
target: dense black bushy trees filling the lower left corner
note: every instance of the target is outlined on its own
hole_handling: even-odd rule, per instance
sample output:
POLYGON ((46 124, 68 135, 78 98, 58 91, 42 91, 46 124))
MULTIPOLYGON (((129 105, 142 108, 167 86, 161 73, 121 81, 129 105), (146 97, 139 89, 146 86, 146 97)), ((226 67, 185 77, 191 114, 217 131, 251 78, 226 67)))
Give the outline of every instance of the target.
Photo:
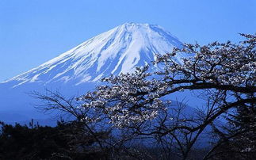
POLYGON ((91 150, 95 139, 80 134, 76 121, 59 121, 57 126, 1 124, 0 159, 101 159, 91 150))

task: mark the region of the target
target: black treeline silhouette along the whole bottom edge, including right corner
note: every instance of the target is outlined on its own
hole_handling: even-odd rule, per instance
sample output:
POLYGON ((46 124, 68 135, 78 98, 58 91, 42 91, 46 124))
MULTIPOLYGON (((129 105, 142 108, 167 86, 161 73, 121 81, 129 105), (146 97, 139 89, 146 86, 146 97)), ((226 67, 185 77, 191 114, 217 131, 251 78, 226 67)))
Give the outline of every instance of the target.
MULTIPOLYGON (((242 111, 240 111, 242 112, 242 111)), ((211 154, 207 159, 246 159, 254 160, 256 128, 246 127, 255 124, 256 112, 244 111, 236 116, 236 124, 246 130, 233 131, 229 139, 221 137, 219 131, 212 132, 216 137, 219 146, 212 151, 215 144, 208 143, 204 148, 194 147, 190 150, 187 159, 203 159, 205 154, 211 154), (251 118, 250 116, 254 116, 251 118), (252 121, 254 120, 254 121, 252 121), (221 143, 220 143, 221 142, 221 143), (212 152, 211 152, 212 151, 212 152)), ((107 141, 115 141, 115 133, 109 131, 94 132, 86 130, 84 124, 78 120, 65 122, 58 121, 55 127, 40 126, 33 124, 5 124, 0 122, 0 159, 1 160, 26 160, 26 159, 182 159, 178 149, 161 147, 157 143, 150 143, 152 139, 130 140, 130 143, 122 143, 116 147, 110 147, 107 141), (105 142, 103 148, 99 141, 105 142), (132 143, 131 143, 132 142, 132 143), (151 144, 151 145, 148 145, 151 144)), ((141 138, 141 137, 140 137, 141 138)))

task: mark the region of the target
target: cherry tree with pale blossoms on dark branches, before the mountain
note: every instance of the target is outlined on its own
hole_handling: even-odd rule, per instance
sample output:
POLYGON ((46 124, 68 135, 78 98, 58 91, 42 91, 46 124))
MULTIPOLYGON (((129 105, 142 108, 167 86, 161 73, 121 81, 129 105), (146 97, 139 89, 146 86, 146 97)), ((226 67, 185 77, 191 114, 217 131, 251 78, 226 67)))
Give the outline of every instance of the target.
POLYGON ((256 101, 256 36, 241 35, 246 40, 239 44, 227 41, 174 48, 156 57, 153 65, 162 69, 155 72, 148 65, 134 73, 104 78, 105 85, 77 98, 75 109, 86 111, 81 118, 85 122, 104 120, 111 128, 153 138, 165 149, 174 147, 187 159, 217 118, 256 101), (184 55, 179 61, 178 54, 184 55), (198 98, 205 102, 191 114, 184 114, 185 105, 174 105, 168 97, 186 90, 198 91, 198 98))

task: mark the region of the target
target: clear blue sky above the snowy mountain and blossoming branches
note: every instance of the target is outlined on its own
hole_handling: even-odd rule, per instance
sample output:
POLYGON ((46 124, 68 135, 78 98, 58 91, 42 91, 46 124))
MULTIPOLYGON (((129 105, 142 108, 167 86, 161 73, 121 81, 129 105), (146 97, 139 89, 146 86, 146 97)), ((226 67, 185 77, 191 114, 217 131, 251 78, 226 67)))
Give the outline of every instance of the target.
POLYGON ((161 25, 187 43, 256 32, 255 0, 0 0, 0 82, 125 22, 161 25))

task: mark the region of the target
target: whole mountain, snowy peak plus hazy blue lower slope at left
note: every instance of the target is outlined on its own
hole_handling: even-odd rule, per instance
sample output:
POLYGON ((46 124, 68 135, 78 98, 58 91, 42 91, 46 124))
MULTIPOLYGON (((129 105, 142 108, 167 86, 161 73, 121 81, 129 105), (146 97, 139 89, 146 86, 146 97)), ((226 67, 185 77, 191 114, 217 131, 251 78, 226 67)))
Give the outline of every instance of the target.
MULTIPOLYGON (((34 90, 44 88, 63 90, 69 95, 84 93, 111 74, 132 72, 164 54, 172 48, 180 48, 181 41, 159 25, 125 23, 90 40, 70 51, 33 68, 23 74, 0 83, 0 113, 25 112, 35 116, 31 103, 38 101, 29 97, 34 90)), ((183 55, 176 55, 179 61, 183 55)), ((153 66, 152 70, 159 69, 153 66)), ((0 114, 1 115, 1 114, 0 114)), ((38 117, 35 117, 38 118, 38 117)), ((1 117, 0 117, 1 120, 1 117)))

